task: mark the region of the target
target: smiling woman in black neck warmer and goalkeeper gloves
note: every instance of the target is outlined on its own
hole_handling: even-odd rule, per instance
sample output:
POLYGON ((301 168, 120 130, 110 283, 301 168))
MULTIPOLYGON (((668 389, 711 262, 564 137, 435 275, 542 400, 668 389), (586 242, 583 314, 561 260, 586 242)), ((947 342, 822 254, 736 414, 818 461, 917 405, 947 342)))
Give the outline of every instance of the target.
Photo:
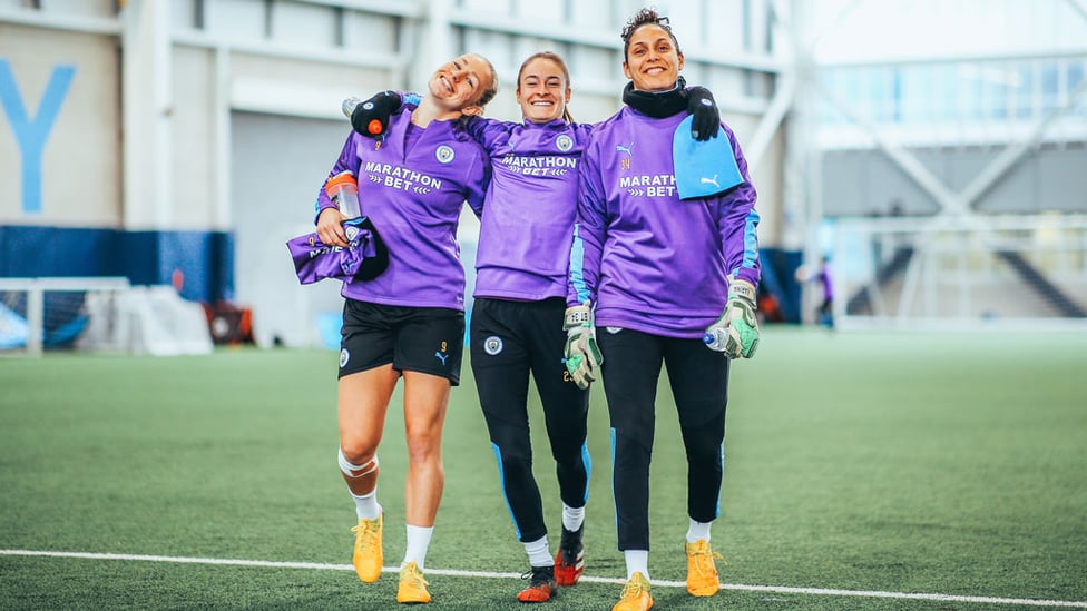
POLYGON ((731 129, 718 125, 722 134, 701 144, 712 158, 674 152, 689 148, 691 134, 682 125, 684 57, 668 19, 642 9, 621 36, 631 82, 626 107, 596 127, 582 156, 566 356, 575 381, 587 385, 599 369, 608 402, 627 572, 613 610, 646 611, 653 607, 649 463, 662 365, 687 459, 687 591, 712 597, 721 589, 709 530, 719 505, 729 358, 753 356, 758 343, 758 215, 731 129), (693 183, 705 190, 680 193, 691 188, 688 166, 703 162, 708 171, 693 183), (716 329, 727 334, 724 352, 704 343, 716 329))

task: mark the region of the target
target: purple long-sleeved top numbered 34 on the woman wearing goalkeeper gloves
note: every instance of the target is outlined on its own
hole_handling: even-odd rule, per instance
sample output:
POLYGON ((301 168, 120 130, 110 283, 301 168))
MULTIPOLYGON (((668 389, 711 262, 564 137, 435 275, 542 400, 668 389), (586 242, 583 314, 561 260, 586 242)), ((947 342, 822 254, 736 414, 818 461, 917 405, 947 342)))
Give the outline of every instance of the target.
POLYGON ((593 300, 598 327, 701 338, 727 299, 727 276, 758 285, 755 189, 736 137, 722 126, 745 183, 680 200, 673 136, 685 114, 623 108, 581 158, 567 303, 593 300))

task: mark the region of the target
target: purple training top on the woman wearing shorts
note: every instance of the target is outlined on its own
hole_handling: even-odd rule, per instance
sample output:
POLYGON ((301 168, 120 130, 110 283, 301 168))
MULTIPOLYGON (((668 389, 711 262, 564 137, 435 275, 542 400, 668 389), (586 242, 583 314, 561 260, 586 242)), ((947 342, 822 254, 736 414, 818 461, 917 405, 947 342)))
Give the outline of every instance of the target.
MULTIPOLYGON (((389 267, 365 283, 344 283, 351 299, 410 307, 464 309, 464 268, 457 226, 467 200, 481 214, 490 162, 459 121, 412 126, 411 114, 390 117, 388 135, 347 137, 329 176, 351 170, 359 178, 362 214, 379 227, 389 267), (409 137, 411 136, 411 137, 409 137)), ((317 213, 335 207, 322 188, 317 213)))

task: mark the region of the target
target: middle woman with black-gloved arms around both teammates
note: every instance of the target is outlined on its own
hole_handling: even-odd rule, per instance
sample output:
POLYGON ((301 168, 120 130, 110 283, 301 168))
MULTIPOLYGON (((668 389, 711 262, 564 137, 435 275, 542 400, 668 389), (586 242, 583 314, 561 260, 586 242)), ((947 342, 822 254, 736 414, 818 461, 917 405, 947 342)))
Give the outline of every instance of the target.
MULTIPOLYGON (((693 125, 708 139, 719 127, 712 96, 684 91, 693 125), (705 104, 703 100, 708 100, 705 104)), ((498 460, 502 492, 530 570, 521 602, 546 602, 584 570, 588 501, 588 390, 562 362, 562 331, 578 165, 591 125, 574 122, 570 76, 562 58, 542 51, 521 63, 517 101, 522 121, 472 118, 468 130, 490 155, 493 179, 481 217, 471 317, 471 363, 498 460), (529 376, 536 381, 562 501, 559 551, 551 556, 542 500, 532 474, 529 376)), ((383 125, 409 96, 386 91, 352 114, 356 130, 383 125), (395 99, 393 99, 393 97, 395 99), (369 105, 369 106, 368 106, 369 105)))

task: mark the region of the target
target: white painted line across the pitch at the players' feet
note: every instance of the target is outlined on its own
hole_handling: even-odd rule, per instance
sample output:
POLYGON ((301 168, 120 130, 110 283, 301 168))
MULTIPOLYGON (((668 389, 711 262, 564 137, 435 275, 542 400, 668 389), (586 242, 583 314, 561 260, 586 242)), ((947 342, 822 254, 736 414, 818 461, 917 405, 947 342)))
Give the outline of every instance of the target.
MULTIPOLYGON (((144 562, 178 562, 182 564, 228 564, 234 566, 271 566, 276 569, 317 569, 323 571, 354 571, 351 564, 326 564, 322 562, 274 562, 270 560, 235 560, 223 558, 188 558, 172 555, 143 554, 110 554, 90 552, 45 552, 33 550, 0 550, 0 555, 30 555, 49 558, 82 558, 88 560, 138 560, 144 562)), ((399 568, 384 566, 384 573, 400 572, 399 568)), ((521 573, 494 573, 489 571, 459 571, 454 569, 427 569, 428 574, 468 576, 483 579, 520 579, 521 573)), ((582 575, 581 581, 593 583, 625 583, 621 579, 598 578, 582 575)), ((682 581, 653 580, 653 585, 664 588, 685 588, 682 581)), ((724 590, 740 590, 746 592, 770 592, 775 594, 810 594, 820 597, 860 597, 873 599, 910 599, 932 600, 941 602, 972 602, 978 604, 1021 604, 1030 607, 1067 607, 1087 609, 1087 601, 1044 600, 1044 599, 1003 599, 997 597, 966 597, 959 594, 934 594, 923 592, 883 592, 880 590, 834 590, 826 588, 792 588, 789 585, 743 585, 737 583, 721 584, 724 590)))

